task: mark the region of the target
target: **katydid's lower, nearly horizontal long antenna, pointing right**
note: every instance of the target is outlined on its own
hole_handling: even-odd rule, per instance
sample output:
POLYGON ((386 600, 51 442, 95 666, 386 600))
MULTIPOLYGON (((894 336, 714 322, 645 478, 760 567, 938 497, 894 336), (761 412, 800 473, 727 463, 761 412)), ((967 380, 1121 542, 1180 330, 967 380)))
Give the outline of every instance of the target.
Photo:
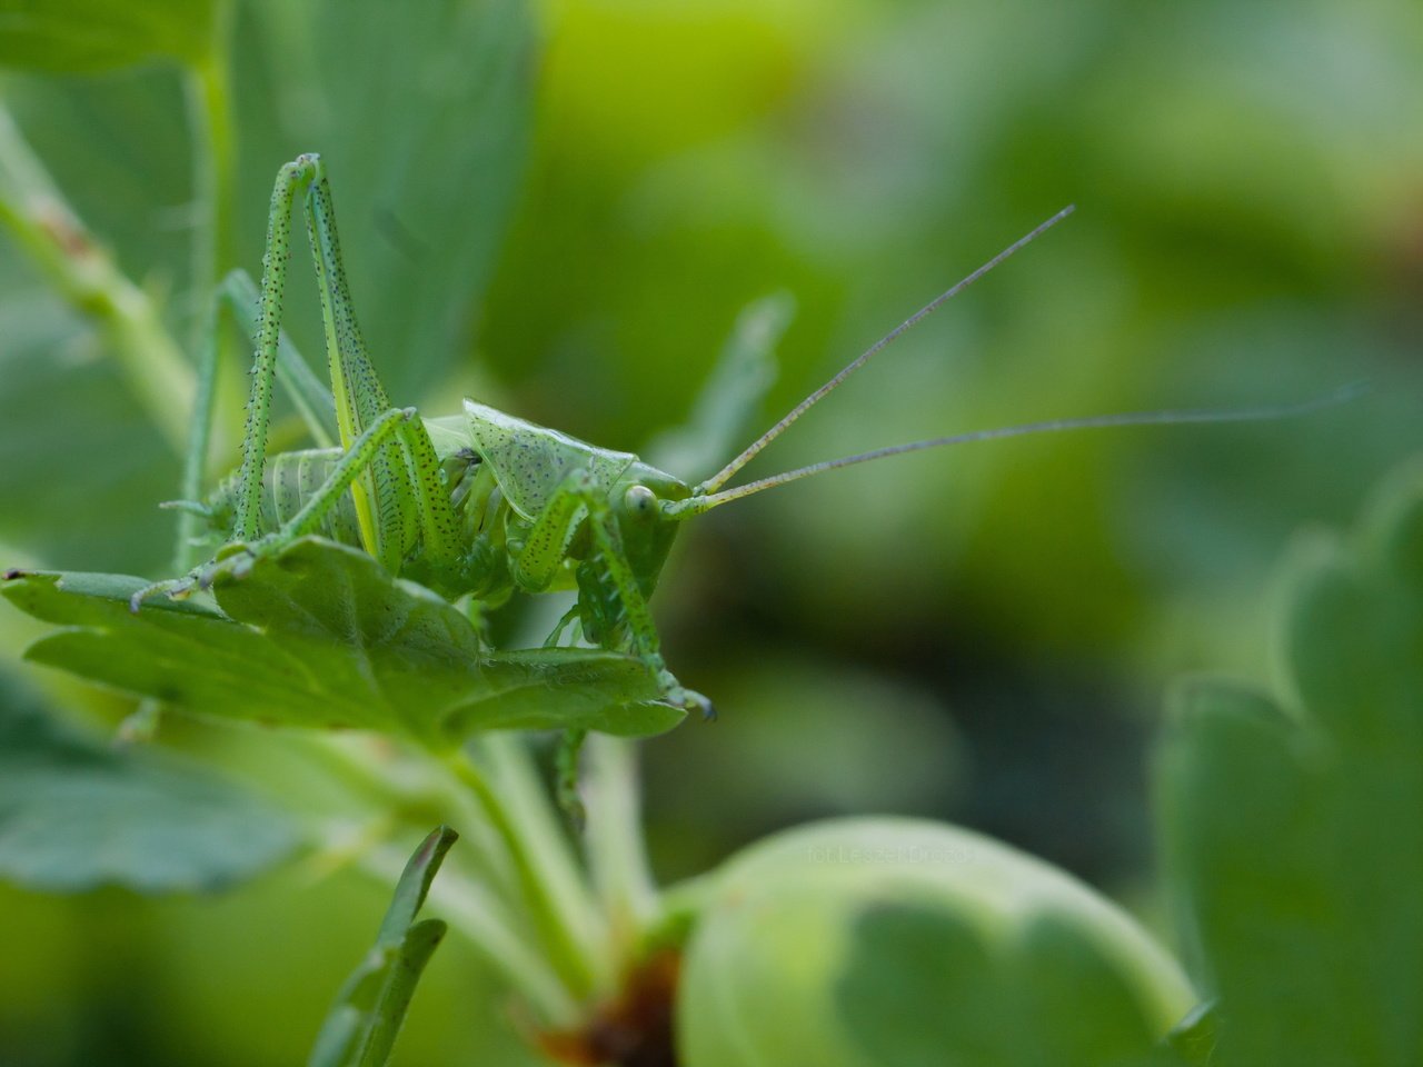
POLYGON ((998 441, 1005 437, 1026 437, 1029 434, 1049 434, 1063 430, 1106 430, 1109 427, 1130 427, 1130 425, 1180 425, 1183 423, 1257 423, 1261 420, 1271 418, 1292 418, 1295 415, 1306 415, 1312 411, 1319 411, 1321 408, 1333 407, 1335 404, 1343 404, 1345 401, 1353 400, 1355 397, 1366 393, 1369 384, 1366 381, 1356 381, 1342 388, 1328 393, 1322 397, 1315 397, 1313 400, 1306 400, 1299 404, 1281 404, 1275 407, 1252 407, 1241 408, 1237 411, 1133 411, 1127 414, 1117 415, 1091 415, 1087 418, 1057 418, 1046 423, 1027 423, 1025 425, 1009 425, 998 427, 995 430, 975 430, 968 434, 953 434, 952 437, 935 437, 928 441, 911 441, 902 445, 889 445, 888 448, 875 448, 869 452, 859 452, 858 455, 847 455, 841 460, 824 460, 818 464, 811 464, 810 467, 798 467, 794 471, 785 471, 783 474, 773 474, 770 478, 761 478, 760 481, 747 482, 746 485, 739 485, 734 489, 723 489, 721 492, 702 494, 697 492, 684 501, 676 501, 663 505, 663 514, 669 518, 687 518, 690 515, 700 515, 703 512, 712 511, 712 508, 719 508, 730 501, 740 499, 741 497, 750 497, 751 494, 761 492, 763 489, 771 489, 777 485, 785 485, 787 482, 797 481, 800 478, 810 478, 815 474, 822 474, 824 471, 834 471, 841 467, 852 467, 855 464, 869 462, 871 460, 884 460, 889 455, 902 455, 904 452, 918 452, 924 448, 939 448, 941 445, 953 444, 969 444, 972 441, 998 441))

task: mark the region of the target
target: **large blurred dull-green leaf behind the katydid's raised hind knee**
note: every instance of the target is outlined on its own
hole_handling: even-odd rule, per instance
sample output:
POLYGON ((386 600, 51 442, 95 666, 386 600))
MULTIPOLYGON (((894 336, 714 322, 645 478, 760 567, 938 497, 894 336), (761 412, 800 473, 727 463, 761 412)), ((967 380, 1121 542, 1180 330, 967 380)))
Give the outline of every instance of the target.
MULTIPOLYGON (((320 152, 373 360, 393 398, 418 403, 467 356, 524 172, 529 4, 260 0, 252 14, 235 54, 240 266, 256 273, 277 168, 320 152)), ((309 283, 293 286, 299 304, 293 340, 319 356, 309 283)))

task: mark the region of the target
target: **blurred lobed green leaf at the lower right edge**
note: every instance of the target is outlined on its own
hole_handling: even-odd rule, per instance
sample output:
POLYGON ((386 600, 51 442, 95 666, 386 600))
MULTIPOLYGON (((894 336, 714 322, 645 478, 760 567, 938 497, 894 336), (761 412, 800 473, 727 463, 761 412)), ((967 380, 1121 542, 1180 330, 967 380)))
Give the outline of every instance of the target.
POLYGON ((1220 994, 1224 1067, 1423 1057, 1423 475, 1285 572, 1302 717, 1175 694, 1161 815, 1220 994))

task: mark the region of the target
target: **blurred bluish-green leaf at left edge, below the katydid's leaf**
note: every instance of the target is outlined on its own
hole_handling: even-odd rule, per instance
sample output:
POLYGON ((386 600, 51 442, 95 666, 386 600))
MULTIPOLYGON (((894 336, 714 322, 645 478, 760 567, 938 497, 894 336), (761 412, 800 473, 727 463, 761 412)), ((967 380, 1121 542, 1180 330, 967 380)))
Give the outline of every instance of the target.
POLYGON ((46 891, 216 889, 296 844, 246 790, 148 748, 64 728, 0 690, 0 875, 46 891))

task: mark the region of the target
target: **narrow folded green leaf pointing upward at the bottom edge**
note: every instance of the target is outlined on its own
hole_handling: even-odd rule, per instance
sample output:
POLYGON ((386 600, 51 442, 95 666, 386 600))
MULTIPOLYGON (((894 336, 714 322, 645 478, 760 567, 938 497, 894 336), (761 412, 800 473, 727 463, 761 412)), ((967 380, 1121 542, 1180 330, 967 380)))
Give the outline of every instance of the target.
POLYGON ((381 1067, 390 1058, 416 983, 445 935, 443 922, 417 923, 416 913, 458 837, 448 827, 438 827, 410 858, 376 946, 346 979, 307 1067, 381 1067))

